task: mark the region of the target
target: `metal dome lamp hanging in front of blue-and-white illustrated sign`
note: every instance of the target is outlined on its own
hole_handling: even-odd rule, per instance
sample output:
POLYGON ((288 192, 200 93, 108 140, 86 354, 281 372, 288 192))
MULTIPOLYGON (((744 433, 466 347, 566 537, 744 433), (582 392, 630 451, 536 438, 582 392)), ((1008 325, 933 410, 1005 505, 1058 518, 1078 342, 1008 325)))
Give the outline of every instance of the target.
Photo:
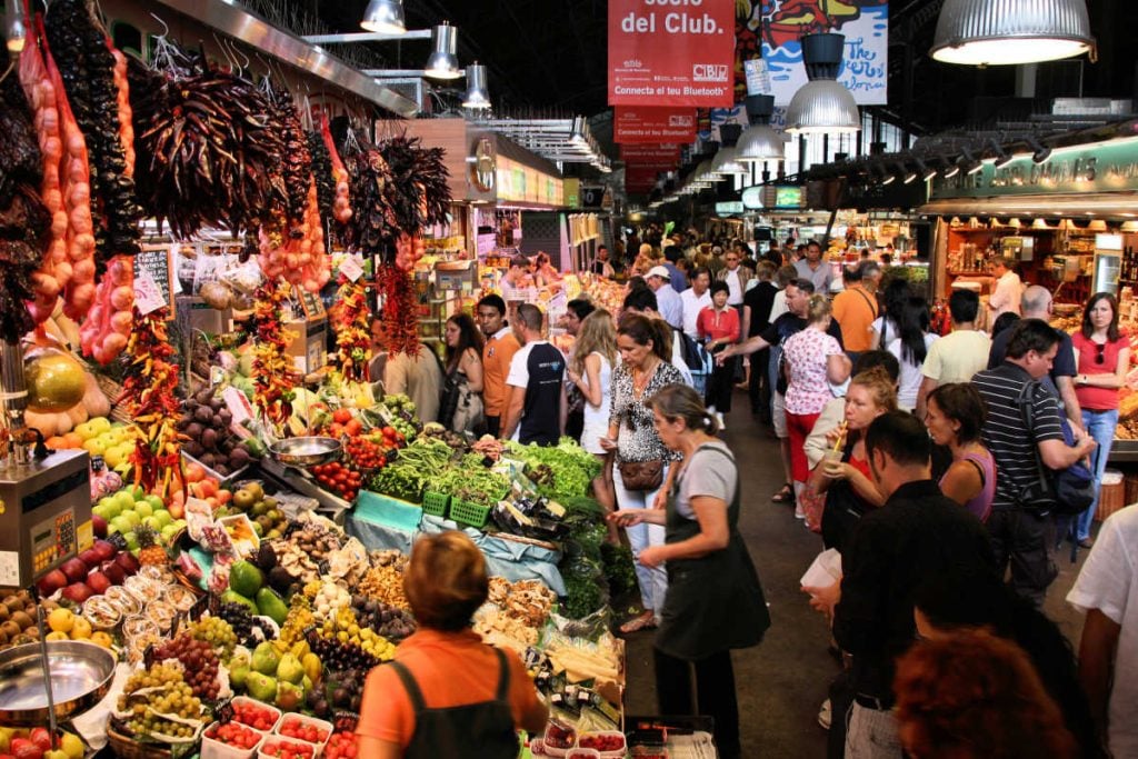
POLYGON ((857 102, 850 91, 838 83, 846 36, 807 34, 801 42, 802 61, 810 81, 794 93, 786 108, 786 131, 792 134, 860 131, 857 102))

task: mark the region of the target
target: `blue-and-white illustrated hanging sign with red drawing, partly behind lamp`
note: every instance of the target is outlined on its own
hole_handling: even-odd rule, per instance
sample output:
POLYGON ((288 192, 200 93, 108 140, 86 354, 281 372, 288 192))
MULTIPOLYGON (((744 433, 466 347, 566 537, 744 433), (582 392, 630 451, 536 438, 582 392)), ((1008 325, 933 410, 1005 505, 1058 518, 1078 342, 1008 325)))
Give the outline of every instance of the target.
POLYGON ((846 35, 838 81, 853 93, 858 105, 888 101, 888 0, 761 0, 740 6, 740 52, 744 60, 761 53, 770 83, 764 94, 775 96, 776 105, 790 105, 808 81, 799 39, 819 32, 846 35))

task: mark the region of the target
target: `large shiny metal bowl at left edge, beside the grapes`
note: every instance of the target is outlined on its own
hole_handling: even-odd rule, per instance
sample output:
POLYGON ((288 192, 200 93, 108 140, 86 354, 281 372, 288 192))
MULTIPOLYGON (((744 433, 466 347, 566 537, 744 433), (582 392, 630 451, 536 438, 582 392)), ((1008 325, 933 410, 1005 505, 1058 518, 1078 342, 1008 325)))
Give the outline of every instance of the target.
MULTIPOLYGON (((115 679, 115 654, 82 641, 49 641, 51 695, 56 719, 86 711, 102 700, 115 679)), ((46 725, 48 690, 39 643, 0 652, 0 724, 46 725)))

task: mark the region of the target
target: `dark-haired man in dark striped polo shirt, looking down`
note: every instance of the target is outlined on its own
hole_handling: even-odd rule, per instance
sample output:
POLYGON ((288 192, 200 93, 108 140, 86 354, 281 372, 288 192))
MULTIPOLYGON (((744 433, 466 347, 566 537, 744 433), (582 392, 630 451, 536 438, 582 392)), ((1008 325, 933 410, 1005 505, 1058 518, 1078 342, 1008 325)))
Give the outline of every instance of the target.
POLYGON ((1020 394, 1050 371, 1059 333, 1040 319, 1020 320, 1013 330, 1004 363, 978 372, 972 383, 988 406, 981 437, 996 459, 996 498, 988 519, 992 548, 1001 568, 1011 562, 1012 587, 1041 605, 1057 574, 1048 552, 1055 525, 1049 513, 1025 509, 1021 494, 1039 479, 1037 455, 1045 467, 1062 470, 1094 451, 1095 442, 1077 429, 1075 445, 1066 445, 1058 403, 1040 385, 1030 396, 1032 429, 1024 429, 1020 394))

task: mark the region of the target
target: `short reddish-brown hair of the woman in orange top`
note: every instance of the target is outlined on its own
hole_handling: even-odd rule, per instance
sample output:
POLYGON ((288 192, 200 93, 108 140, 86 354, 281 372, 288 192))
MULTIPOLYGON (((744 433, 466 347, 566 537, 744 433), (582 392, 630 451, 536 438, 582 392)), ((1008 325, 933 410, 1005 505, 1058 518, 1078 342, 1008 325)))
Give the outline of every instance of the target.
POLYGON ((403 591, 420 626, 459 632, 489 595, 486 558, 464 533, 426 535, 411 548, 403 591))

